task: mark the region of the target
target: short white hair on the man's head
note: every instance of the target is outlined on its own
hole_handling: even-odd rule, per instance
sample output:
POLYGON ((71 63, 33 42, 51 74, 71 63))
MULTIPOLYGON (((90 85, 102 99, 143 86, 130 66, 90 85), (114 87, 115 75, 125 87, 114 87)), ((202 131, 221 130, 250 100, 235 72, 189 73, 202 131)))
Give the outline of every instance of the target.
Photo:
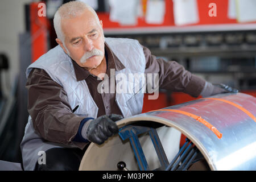
POLYGON ((76 18, 77 16, 84 13, 85 10, 91 11, 95 16, 97 22, 100 24, 100 19, 98 19, 98 15, 93 10, 93 8, 81 1, 70 1, 68 3, 65 3, 61 5, 59 9, 56 11, 53 18, 53 26, 55 28, 57 38, 60 39, 61 42, 63 42, 63 44, 64 44, 65 36, 63 35, 63 31, 61 30, 61 20, 76 18))

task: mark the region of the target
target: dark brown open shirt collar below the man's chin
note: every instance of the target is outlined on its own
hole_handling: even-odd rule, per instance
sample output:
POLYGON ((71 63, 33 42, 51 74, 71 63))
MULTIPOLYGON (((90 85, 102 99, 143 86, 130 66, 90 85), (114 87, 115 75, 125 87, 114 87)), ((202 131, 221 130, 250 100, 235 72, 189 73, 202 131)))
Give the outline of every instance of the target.
MULTIPOLYGON (((114 55, 108 44, 105 42, 105 57, 108 64, 106 74, 110 76, 110 69, 115 69, 115 71, 120 71, 125 68, 117 56, 114 55)), ((81 81, 86 79, 88 76, 93 76, 87 69, 80 67, 76 61, 72 60, 72 64, 75 70, 76 80, 81 81)))

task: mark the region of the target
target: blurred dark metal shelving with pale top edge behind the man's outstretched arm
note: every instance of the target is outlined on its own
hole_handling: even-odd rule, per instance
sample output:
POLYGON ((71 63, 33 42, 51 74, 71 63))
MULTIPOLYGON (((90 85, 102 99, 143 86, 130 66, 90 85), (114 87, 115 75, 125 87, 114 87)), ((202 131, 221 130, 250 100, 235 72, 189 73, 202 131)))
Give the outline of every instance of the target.
POLYGON ((207 80, 221 74, 220 82, 238 89, 256 88, 254 81, 248 81, 256 80, 256 24, 136 28, 129 32, 118 28, 104 32, 106 37, 137 39, 153 55, 175 60, 207 80), (193 65, 200 65, 200 69, 193 65))

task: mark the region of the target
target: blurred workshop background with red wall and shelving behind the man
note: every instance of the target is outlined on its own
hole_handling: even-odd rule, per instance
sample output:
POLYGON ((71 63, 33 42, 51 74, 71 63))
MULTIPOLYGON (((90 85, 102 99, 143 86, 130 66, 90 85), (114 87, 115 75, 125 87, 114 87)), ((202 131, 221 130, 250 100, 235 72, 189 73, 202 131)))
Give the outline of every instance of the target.
MULTIPOLYGON (((0 1, 0 160, 21 163, 27 123, 25 70, 57 46, 53 15, 68 1, 0 1)), ((175 60, 212 83, 256 96, 255 0, 84 0, 106 37, 137 39, 153 55, 175 60)), ((160 90, 143 112, 195 100, 160 90)))

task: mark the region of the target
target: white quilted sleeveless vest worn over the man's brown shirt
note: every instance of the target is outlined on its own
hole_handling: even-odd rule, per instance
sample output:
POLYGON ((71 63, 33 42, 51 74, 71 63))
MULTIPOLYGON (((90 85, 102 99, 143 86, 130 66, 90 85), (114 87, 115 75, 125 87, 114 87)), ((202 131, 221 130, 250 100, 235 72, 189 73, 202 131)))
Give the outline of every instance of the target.
MULTIPOLYGON (((124 117, 139 114, 141 113, 143 106, 145 78, 144 76, 139 77, 139 79, 135 79, 134 83, 129 79, 129 75, 131 73, 144 74, 146 61, 143 48, 137 40, 133 39, 105 38, 105 42, 125 66, 121 71, 115 71, 115 75, 125 75, 127 78, 125 82, 127 89, 137 91, 135 93, 118 92, 116 93, 115 101, 124 117), (139 86, 139 89, 137 86, 139 86)), ((65 92, 67 92, 68 102, 71 108, 73 109, 79 105, 75 114, 82 114, 85 117, 97 117, 98 107, 90 95, 86 81, 76 80, 72 60, 60 46, 56 46, 49 50, 46 54, 32 63, 27 68, 27 77, 32 68, 44 69, 52 80, 63 87, 65 92)), ((115 76, 115 81, 118 83, 119 81, 122 81, 122 79, 115 76)), ((20 143, 24 169, 34 170, 35 164, 39 158, 38 152, 46 151, 53 147, 75 146, 64 146, 62 144, 47 142, 34 130, 31 117, 29 116, 24 137, 22 143, 20 143)))

